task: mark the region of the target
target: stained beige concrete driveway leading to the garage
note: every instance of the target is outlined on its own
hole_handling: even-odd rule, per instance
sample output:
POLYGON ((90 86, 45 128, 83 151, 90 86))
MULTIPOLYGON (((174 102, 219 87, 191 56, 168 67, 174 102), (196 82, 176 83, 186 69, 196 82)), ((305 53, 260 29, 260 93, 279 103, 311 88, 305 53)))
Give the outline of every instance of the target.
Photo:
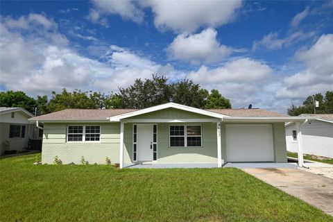
POLYGON ((293 168, 243 170, 333 216, 333 179, 293 168))

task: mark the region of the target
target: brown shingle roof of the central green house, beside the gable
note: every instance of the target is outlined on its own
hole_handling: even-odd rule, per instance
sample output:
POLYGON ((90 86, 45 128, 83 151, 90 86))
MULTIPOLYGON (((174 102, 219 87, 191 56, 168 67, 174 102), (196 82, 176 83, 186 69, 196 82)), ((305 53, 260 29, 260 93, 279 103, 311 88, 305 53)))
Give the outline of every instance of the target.
MULTIPOLYGON (((107 117, 114 117, 119 114, 137 111, 135 109, 108 109, 108 110, 80 110, 80 109, 67 109, 58 112, 44 114, 39 117, 33 117, 32 121, 41 119, 88 119, 88 120, 101 120, 107 117)), ((230 117, 283 117, 279 112, 267 111, 262 109, 226 109, 226 110, 207 110, 219 114, 225 114, 230 117)))

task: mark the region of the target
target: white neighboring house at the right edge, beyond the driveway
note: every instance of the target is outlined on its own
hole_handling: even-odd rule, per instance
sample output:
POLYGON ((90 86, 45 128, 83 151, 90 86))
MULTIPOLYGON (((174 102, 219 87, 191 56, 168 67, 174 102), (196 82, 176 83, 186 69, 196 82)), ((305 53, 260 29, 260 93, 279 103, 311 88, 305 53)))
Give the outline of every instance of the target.
MULTIPOLYGON (((333 158, 333 114, 301 114, 315 117, 300 126, 303 153, 333 158)), ((286 124, 287 150, 298 152, 295 123, 286 124)))

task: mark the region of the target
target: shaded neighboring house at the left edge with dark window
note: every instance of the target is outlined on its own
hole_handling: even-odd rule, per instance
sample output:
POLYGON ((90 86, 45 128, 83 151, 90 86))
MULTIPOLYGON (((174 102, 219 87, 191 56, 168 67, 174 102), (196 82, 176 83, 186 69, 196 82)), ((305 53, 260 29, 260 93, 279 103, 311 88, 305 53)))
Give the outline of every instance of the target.
POLYGON ((39 137, 39 130, 28 119, 33 114, 23 108, 0 107, 0 155, 4 151, 23 151, 29 139, 39 137))

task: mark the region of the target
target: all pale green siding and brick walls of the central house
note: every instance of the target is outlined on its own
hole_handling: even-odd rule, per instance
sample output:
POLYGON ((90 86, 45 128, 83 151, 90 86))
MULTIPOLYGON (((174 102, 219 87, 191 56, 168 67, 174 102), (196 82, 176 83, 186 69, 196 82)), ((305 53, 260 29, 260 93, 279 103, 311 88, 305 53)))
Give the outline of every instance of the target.
MULTIPOLYGON (((214 119, 205 115, 194 114, 169 108, 142 114, 137 119, 214 119)), ((132 118, 131 118, 132 119, 132 118)), ((133 163, 133 124, 124 123, 123 163, 133 163)), ((137 123, 140 124, 140 123, 137 123)), ((158 163, 216 163, 217 136, 215 122, 198 123, 156 123, 157 124, 157 164, 158 163), (200 125, 202 126, 202 147, 169 147, 170 125, 200 125)), ((225 123, 221 122, 221 158, 226 160, 225 123)), ((244 123, 242 123, 244 124, 244 123)), ((253 124, 253 123, 251 123, 253 124)), ((287 150, 284 134, 284 123, 271 123, 273 126, 273 147, 275 162, 287 162, 287 150)), ((120 123, 87 123, 101 126, 101 142, 66 142, 67 126, 82 125, 82 123, 44 123, 44 138, 42 147, 42 162, 53 163, 58 155, 64 164, 80 163, 81 156, 89 163, 105 164, 105 157, 112 163, 119 163, 120 123)), ((139 152, 139 150, 138 150, 139 152)))

